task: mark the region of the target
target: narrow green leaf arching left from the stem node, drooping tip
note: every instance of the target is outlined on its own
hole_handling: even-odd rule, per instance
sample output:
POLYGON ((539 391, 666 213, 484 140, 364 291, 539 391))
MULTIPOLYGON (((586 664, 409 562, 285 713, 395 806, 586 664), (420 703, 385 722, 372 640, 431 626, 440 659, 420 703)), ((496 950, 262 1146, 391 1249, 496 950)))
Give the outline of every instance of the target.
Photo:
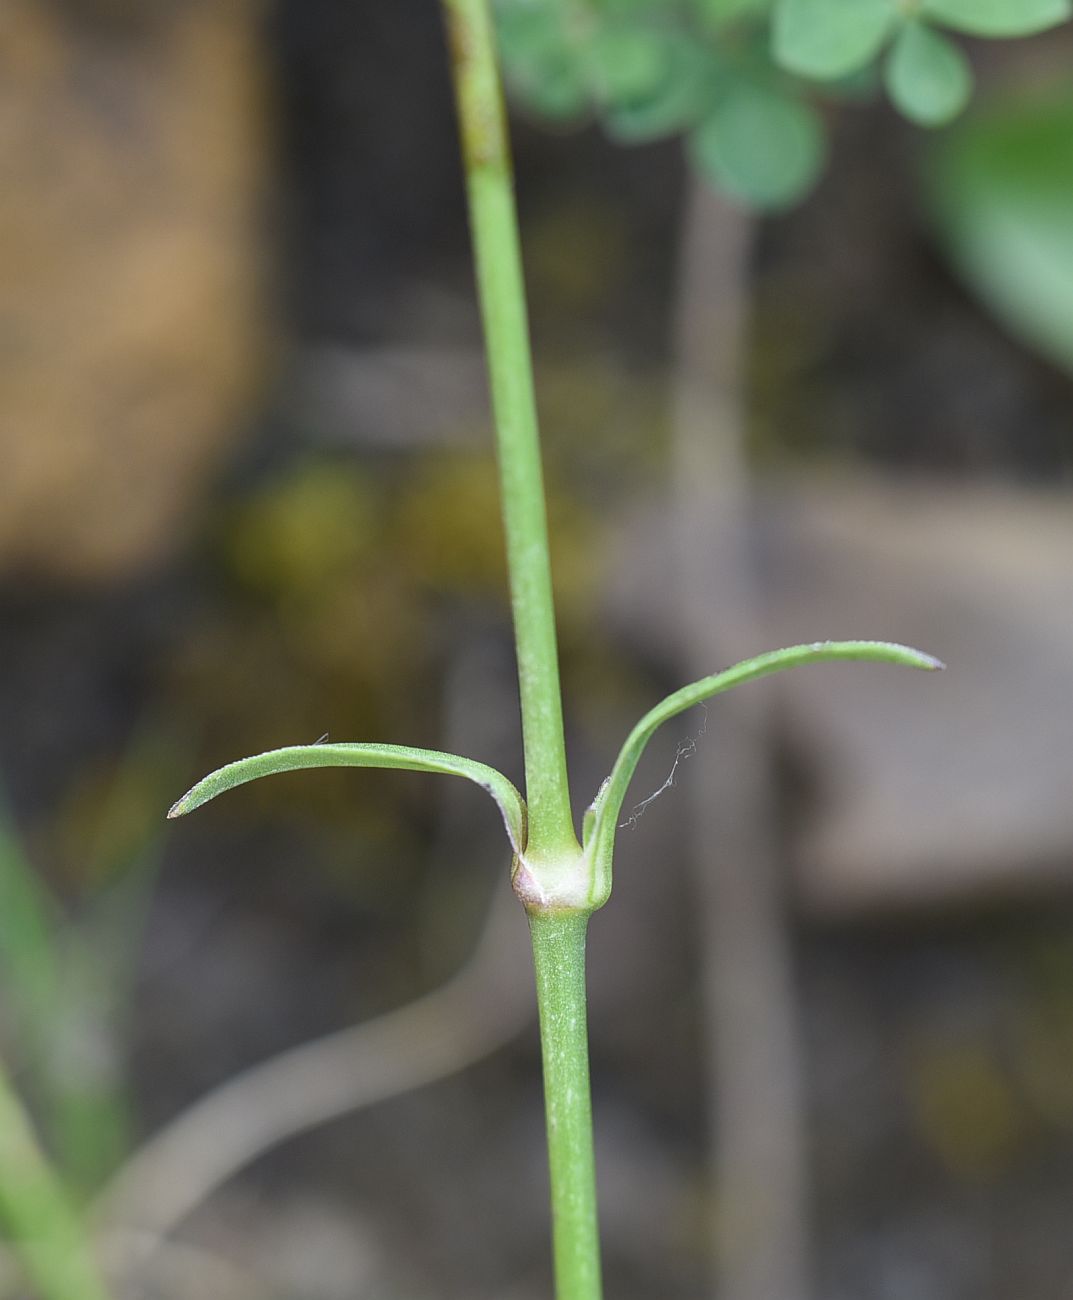
POLYGON ((520 854, 525 848, 528 835, 525 801, 502 772, 459 754, 411 749, 407 745, 291 745, 286 749, 271 749, 265 754, 241 758, 235 763, 228 763, 209 772, 172 805, 168 816, 185 816, 209 800, 215 800, 217 794, 233 790, 235 785, 245 785, 261 776, 274 776, 277 772, 295 772, 303 767, 380 767, 463 776, 496 800, 514 852, 520 854))

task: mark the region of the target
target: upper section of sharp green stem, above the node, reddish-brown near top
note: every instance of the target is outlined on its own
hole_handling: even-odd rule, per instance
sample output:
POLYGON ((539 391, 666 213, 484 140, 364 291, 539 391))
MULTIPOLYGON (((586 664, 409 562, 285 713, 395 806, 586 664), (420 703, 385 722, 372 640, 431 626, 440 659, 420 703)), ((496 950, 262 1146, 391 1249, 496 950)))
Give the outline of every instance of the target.
POLYGON ((576 850, 559 694, 548 511, 510 142, 488 0, 444 0, 496 419, 522 694, 527 858, 576 850))

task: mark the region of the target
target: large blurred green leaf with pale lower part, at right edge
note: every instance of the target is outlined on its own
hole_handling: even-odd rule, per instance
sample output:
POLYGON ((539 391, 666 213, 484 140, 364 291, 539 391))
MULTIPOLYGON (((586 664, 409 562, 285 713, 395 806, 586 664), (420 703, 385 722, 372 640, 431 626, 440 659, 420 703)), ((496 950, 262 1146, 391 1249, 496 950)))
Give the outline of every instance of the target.
POLYGON ((926 183, 969 286, 1017 337, 1073 372, 1073 92, 1009 99, 934 150, 926 183))

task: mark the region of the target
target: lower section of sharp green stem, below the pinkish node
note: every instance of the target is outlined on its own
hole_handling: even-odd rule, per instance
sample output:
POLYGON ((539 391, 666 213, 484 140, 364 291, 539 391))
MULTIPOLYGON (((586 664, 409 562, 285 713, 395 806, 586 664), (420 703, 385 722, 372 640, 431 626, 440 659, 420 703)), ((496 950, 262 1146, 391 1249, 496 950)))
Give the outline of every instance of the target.
POLYGON ((529 916, 551 1171, 558 1300, 600 1300, 600 1230, 585 1022, 585 913, 529 916))

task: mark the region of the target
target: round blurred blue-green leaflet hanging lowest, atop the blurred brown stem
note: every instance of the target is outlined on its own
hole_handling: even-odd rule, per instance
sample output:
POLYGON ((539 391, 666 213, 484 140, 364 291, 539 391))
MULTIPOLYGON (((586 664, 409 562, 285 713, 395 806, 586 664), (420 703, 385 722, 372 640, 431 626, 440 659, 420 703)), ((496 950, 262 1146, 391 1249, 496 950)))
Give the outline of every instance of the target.
POLYGON ((732 198, 756 208, 786 208, 819 176, 823 127, 801 100, 743 83, 693 131, 689 153, 697 170, 732 198))

